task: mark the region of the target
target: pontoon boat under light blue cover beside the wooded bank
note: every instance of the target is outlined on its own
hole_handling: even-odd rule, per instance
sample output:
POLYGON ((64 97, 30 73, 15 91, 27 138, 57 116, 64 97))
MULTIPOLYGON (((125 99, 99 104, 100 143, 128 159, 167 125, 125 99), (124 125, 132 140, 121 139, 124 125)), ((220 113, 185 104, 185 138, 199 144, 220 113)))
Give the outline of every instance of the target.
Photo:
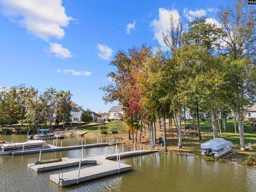
POLYGON ((215 138, 201 144, 201 155, 221 157, 232 150, 233 143, 223 138, 215 138))

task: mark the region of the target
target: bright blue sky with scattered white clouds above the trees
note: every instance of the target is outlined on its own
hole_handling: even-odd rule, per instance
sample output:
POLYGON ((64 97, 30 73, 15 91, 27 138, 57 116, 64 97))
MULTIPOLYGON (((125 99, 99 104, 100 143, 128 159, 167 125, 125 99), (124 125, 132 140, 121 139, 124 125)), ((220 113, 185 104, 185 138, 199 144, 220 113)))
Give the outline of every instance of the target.
POLYGON ((217 8, 228 1, 0 0, 0 87, 26 84, 40 92, 70 90, 79 106, 101 113, 99 87, 118 50, 143 43, 166 50, 162 29, 170 15, 187 23, 205 15, 216 23, 217 8))

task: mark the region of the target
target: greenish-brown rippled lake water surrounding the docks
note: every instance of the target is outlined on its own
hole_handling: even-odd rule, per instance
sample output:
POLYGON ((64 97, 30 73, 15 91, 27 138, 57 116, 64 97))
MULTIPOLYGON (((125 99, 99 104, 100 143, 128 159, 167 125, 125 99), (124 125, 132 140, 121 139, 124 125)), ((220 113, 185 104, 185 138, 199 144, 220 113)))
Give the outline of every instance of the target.
MULTIPOLYGON (((0 135, 0 140, 26 141, 26 135, 0 135)), ((63 146, 81 145, 78 137, 62 140, 63 146)), ((52 144, 52 140, 46 140, 52 144)), ((59 141, 60 142, 60 141, 59 141)), ((86 143, 95 143, 86 139, 86 143)), ((119 146, 121 149, 122 146, 119 146)), ((132 150, 132 148, 125 148, 132 150)), ((108 147, 115 153, 115 146, 108 147)), ((104 155, 106 147, 90 148, 85 157, 104 155)), ((0 191, 256 191, 256 169, 229 163, 209 162, 193 156, 155 153, 125 158, 133 171, 61 188, 50 175, 78 167, 36 173, 27 167, 38 161, 39 154, 0 156, 0 191)), ((41 159, 79 158, 81 149, 42 153, 41 159)), ((92 166, 84 165, 82 168, 92 166)))

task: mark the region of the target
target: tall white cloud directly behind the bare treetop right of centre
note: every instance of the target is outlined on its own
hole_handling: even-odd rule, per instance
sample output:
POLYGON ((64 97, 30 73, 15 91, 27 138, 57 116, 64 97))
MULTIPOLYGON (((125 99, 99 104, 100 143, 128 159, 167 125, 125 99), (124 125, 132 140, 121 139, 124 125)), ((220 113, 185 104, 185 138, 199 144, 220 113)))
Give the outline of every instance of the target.
POLYGON ((164 8, 159 8, 158 12, 159 18, 154 19, 150 25, 151 27, 153 27, 154 30, 154 38, 157 39, 159 45, 161 46, 161 49, 166 51, 168 49, 163 41, 162 31, 166 31, 170 28, 171 16, 173 17, 174 25, 177 25, 180 14, 179 11, 176 9, 167 10, 164 8))

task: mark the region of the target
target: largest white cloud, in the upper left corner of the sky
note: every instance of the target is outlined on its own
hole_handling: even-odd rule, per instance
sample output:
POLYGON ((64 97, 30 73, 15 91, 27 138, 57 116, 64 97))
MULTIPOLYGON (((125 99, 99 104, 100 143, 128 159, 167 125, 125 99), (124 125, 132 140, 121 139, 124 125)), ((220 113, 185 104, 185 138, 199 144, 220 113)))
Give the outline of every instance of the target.
POLYGON ((1 0, 0 3, 6 17, 45 41, 50 37, 63 38, 63 27, 72 19, 66 15, 61 0, 1 0))

